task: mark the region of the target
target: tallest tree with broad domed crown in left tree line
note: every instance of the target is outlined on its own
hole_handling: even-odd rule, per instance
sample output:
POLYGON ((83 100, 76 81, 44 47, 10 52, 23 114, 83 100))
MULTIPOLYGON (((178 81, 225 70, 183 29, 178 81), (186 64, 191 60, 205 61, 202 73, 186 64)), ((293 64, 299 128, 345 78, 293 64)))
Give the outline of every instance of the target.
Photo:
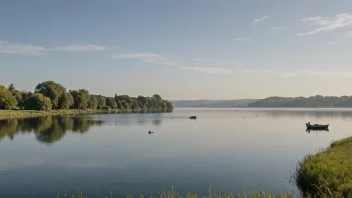
POLYGON ((53 108, 57 109, 59 107, 59 98, 62 94, 66 93, 66 88, 54 81, 46 81, 38 84, 35 87, 35 92, 49 97, 53 104, 53 108))

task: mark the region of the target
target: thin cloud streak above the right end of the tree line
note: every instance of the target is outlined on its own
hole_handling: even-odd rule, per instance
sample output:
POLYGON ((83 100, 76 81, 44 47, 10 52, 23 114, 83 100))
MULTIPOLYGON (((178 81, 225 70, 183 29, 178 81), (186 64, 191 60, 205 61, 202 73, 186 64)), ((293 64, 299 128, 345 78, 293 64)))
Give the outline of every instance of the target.
POLYGON ((162 63, 166 65, 176 65, 176 63, 167 60, 161 55, 155 54, 155 53, 130 53, 130 54, 114 54, 112 58, 115 59, 134 59, 134 60, 140 60, 140 61, 145 61, 145 62, 156 62, 156 63, 162 63))

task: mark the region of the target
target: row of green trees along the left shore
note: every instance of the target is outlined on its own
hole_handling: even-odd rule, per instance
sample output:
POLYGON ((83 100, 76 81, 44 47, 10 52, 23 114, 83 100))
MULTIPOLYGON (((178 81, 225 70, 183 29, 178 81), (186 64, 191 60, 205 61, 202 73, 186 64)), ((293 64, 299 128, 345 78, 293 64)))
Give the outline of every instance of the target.
POLYGON ((34 92, 19 91, 13 84, 0 85, 0 109, 52 110, 52 109, 119 109, 119 110, 171 110, 172 103, 160 95, 152 97, 117 95, 107 97, 90 94, 86 89, 69 90, 54 81, 39 83, 34 92))

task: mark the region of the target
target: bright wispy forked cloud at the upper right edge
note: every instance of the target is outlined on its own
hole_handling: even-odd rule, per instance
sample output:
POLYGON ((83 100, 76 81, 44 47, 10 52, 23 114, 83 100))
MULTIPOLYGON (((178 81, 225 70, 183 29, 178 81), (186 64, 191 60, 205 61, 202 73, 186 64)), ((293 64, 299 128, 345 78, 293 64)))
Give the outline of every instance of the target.
POLYGON ((297 35, 298 36, 313 35, 320 32, 328 32, 328 31, 333 31, 335 29, 351 26, 352 14, 343 13, 343 14, 338 14, 336 16, 330 16, 330 17, 315 16, 315 17, 301 19, 301 22, 308 22, 314 26, 318 26, 318 28, 309 32, 299 33, 297 35))

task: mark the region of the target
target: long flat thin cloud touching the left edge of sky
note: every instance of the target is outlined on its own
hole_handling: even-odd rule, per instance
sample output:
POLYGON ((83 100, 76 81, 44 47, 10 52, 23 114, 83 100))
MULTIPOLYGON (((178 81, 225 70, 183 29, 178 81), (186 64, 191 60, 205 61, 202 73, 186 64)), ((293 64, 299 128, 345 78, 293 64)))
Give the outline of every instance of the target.
POLYGON ((52 51, 68 51, 68 52, 92 52, 108 49, 99 45, 66 45, 62 47, 45 48, 32 44, 10 43, 8 41, 0 41, 0 54, 21 54, 21 55, 42 55, 52 51))

